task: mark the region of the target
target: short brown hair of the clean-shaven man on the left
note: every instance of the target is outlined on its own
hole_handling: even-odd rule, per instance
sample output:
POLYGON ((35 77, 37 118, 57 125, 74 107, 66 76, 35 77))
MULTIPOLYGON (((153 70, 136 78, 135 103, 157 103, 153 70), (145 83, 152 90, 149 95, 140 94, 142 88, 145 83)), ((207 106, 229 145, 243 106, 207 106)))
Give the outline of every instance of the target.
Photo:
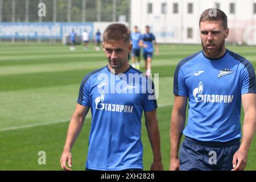
POLYGON ((130 30, 122 23, 113 23, 106 27, 103 33, 104 42, 114 42, 116 40, 123 40, 123 42, 130 42, 130 30))

